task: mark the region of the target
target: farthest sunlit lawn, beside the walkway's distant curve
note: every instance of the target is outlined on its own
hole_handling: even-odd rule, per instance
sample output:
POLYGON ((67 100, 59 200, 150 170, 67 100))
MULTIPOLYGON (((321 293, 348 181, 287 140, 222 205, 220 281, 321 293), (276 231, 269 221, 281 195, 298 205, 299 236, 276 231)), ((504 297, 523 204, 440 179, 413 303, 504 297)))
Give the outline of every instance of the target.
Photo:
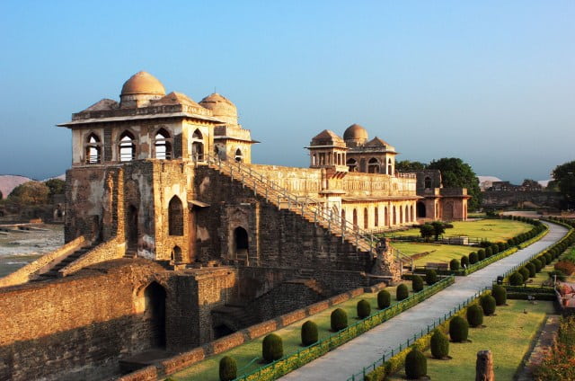
MULTIPOLYGON (((521 233, 526 233, 532 227, 524 222, 509 219, 455 221, 453 222, 453 228, 446 229, 445 235, 467 235, 473 238, 484 238, 491 242, 502 242, 521 233)), ((420 229, 403 230, 394 232, 392 235, 420 235, 420 229)))

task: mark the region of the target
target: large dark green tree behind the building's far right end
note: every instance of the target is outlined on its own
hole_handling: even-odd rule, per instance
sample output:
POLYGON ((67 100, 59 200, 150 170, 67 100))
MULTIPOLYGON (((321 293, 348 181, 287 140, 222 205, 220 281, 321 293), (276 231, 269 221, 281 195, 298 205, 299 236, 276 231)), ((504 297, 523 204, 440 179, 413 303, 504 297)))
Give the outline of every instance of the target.
POLYGON ((471 165, 465 164, 457 157, 444 157, 433 160, 428 169, 438 169, 441 172, 441 181, 445 188, 467 188, 467 194, 472 197, 467 201, 470 210, 480 207, 482 194, 479 189, 479 179, 471 165))

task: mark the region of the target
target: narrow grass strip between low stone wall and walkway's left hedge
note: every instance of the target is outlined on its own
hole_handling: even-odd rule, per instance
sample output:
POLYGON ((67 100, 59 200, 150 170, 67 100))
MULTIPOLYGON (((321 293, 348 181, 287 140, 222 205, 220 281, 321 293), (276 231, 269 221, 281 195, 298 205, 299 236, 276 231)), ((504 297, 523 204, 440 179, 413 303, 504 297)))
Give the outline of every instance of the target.
MULTIPOLYGON (((411 289, 411 282, 406 282, 408 287, 411 289)), ((397 303, 395 300, 395 287, 385 288, 392 295, 392 304, 397 303)), ((348 323, 352 324, 357 322, 357 310, 356 305, 360 299, 366 299, 371 305, 372 314, 377 311, 377 293, 365 293, 358 297, 349 299, 339 305, 332 306, 323 312, 310 316, 304 320, 296 323, 292 323, 287 327, 276 331, 283 340, 284 344, 284 354, 288 354, 303 348, 301 344, 300 329, 301 325, 306 320, 313 320, 317 323, 319 329, 320 340, 328 337, 333 332, 330 331, 330 315, 335 308, 343 308, 348 314, 348 323)), ((237 361, 238 376, 245 373, 249 373, 256 368, 261 367, 261 341, 263 337, 255 339, 250 342, 246 342, 232 350, 227 350, 226 352, 217 354, 208 359, 200 361, 197 364, 192 365, 190 368, 181 370, 180 372, 173 375, 178 380, 205 380, 205 381, 219 381, 218 367, 219 360, 224 356, 231 356, 237 361), (257 359, 256 359, 257 358, 257 359), (253 361, 252 365, 249 365, 253 361), (247 368, 244 368, 248 366, 247 368)))

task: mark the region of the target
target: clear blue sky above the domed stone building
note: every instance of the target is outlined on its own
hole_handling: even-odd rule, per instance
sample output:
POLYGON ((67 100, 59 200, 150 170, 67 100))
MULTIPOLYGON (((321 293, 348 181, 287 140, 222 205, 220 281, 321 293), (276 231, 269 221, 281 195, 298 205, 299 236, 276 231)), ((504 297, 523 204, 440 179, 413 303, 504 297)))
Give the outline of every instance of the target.
POLYGON ((312 137, 358 123, 398 160, 548 179, 575 160, 573 20, 573 0, 4 0, 0 174, 64 173, 55 125, 145 70, 234 102, 255 163, 305 167, 312 137))

